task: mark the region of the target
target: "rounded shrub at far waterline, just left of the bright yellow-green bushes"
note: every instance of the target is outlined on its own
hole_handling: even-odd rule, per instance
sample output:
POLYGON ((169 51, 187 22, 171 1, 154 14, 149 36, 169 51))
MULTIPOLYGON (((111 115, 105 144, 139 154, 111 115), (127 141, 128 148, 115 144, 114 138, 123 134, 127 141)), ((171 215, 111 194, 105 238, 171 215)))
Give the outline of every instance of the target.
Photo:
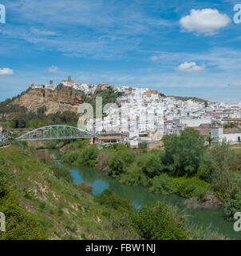
POLYGON ((152 178, 152 186, 149 189, 150 192, 172 194, 175 192, 175 188, 172 185, 172 178, 168 174, 160 174, 152 178))

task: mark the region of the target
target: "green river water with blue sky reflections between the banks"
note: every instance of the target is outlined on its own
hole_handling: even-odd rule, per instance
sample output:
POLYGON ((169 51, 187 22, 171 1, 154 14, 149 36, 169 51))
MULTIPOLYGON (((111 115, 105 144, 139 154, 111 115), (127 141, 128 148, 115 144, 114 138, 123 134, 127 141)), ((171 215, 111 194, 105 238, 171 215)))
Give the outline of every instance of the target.
POLYGON ((210 226, 212 230, 219 230, 219 233, 228 236, 231 239, 241 239, 241 233, 233 230, 233 222, 227 222, 223 218, 223 210, 190 210, 184 205, 184 198, 175 194, 153 194, 148 192, 147 188, 140 186, 126 186, 118 182, 116 179, 109 177, 107 174, 92 167, 77 167, 65 165, 65 168, 71 171, 73 182, 79 184, 87 182, 93 186, 93 195, 101 194, 105 189, 112 190, 124 198, 128 198, 133 206, 142 206, 145 202, 161 201, 172 206, 177 206, 193 224, 203 227, 210 226))

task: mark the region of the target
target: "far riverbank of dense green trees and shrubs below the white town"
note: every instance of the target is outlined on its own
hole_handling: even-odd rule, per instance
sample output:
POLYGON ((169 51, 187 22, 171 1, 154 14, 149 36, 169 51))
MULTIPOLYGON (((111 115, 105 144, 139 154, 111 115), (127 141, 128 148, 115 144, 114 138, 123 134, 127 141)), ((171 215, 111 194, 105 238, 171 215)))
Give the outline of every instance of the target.
POLYGON ((203 137, 191 128, 163 141, 164 148, 149 151, 74 141, 62 148, 61 160, 74 166, 95 167, 125 185, 189 198, 185 202, 189 208, 223 208, 224 218, 234 222, 235 212, 241 211, 239 152, 234 154, 224 142, 208 148, 203 137))

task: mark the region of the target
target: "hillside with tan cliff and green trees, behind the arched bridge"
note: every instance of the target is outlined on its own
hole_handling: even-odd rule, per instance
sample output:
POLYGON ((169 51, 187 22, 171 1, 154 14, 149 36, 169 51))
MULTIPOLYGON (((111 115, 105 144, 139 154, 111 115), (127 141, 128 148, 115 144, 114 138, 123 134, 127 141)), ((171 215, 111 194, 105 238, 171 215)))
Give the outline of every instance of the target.
MULTIPOLYGON (((110 86, 85 94, 69 86, 58 85, 55 90, 28 89, 12 99, 0 102, 0 126, 6 128, 38 128, 53 124, 77 125, 77 107, 90 103, 95 110, 96 97, 106 103, 117 102, 120 92, 110 86), (2 123, 1 123, 2 122, 2 123)), ((95 114, 95 111, 94 111, 95 114)))

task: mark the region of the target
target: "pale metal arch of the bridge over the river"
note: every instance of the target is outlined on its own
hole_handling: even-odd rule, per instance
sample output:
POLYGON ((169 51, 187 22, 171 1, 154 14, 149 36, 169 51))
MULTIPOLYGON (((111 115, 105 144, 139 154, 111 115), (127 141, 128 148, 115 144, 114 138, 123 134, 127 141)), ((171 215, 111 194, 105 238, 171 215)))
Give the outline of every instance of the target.
POLYGON ((98 138, 87 130, 65 125, 44 126, 18 137, 18 141, 54 140, 68 138, 98 138))

